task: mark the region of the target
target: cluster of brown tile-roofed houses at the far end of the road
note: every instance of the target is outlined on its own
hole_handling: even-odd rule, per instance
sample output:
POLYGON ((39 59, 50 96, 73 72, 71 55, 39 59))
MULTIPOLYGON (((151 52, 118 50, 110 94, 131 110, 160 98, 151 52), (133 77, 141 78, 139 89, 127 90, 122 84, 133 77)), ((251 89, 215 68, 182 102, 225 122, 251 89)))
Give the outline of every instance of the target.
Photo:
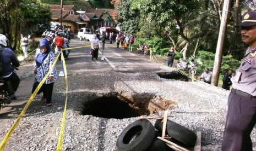
MULTIPOLYGON (((61 5, 50 5, 52 13, 51 24, 60 25, 61 5)), ((70 28, 75 33, 81 27, 88 27, 92 30, 106 26, 115 27, 117 11, 114 9, 86 9, 84 14, 78 14, 74 5, 63 5, 62 26, 70 28)))

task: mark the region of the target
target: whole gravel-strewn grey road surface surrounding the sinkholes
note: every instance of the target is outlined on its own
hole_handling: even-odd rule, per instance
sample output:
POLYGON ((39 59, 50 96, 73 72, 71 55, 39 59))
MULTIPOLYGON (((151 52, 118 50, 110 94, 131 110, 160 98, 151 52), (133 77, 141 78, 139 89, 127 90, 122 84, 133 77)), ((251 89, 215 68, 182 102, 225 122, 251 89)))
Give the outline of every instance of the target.
MULTIPOLYGON (((77 45, 82 44, 74 40, 70 47, 77 45)), ((113 93, 127 98, 133 105, 139 100, 144 100, 146 107, 167 102, 162 103, 162 108, 157 109, 156 113, 141 117, 162 116, 167 109, 171 116, 168 119, 194 132, 201 131, 202 150, 220 150, 228 91, 203 82, 160 78, 156 73, 177 71, 149 62, 140 54, 116 49, 114 45, 106 45, 105 56, 116 68, 112 68, 106 60, 90 61, 89 48, 74 49, 66 61, 68 103, 62 150, 115 150, 119 134, 138 117, 99 118, 81 113, 85 101, 113 93), (128 63, 130 60, 134 61, 133 68, 128 63), (141 69, 145 66, 150 67, 150 70, 141 69), (168 102, 172 102, 171 105, 168 102)), ((58 72, 59 64, 57 62, 58 72)), ((30 97, 34 82, 32 69, 32 60, 19 67, 21 83, 17 91, 18 100, 0 111, 1 140, 30 97)), ((32 101, 3 150, 56 150, 66 98, 64 78, 59 77, 55 83, 52 107, 46 107, 40 97, 37 95, 32 101)), ((108 112, 111 110, 115 109, 110 108, 108 112)), ((155 120, 150 121, 155 123, 155 120)), ((256 150, 255 129, 251 137, 253 150, 256 150)))

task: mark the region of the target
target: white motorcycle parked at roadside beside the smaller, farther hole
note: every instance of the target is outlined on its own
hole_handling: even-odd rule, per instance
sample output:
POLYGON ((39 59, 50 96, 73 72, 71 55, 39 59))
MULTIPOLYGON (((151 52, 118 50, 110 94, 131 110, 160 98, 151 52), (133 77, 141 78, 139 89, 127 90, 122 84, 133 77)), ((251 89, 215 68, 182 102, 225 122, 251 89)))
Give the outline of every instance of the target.
POLYGON ((196 74, 197 68, 195 67, 194 57, 190 57, 189 61, 186 62, 182 58, 178 60, 177 68, 184 71, 188 71, 189 74, 196 74))

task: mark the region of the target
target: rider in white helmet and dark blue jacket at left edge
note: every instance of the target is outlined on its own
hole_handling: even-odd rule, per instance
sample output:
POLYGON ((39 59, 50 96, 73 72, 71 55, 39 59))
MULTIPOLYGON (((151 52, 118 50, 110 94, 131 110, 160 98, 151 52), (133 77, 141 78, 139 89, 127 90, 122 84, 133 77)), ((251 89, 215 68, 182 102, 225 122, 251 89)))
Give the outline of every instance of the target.
POLYGON ((7 47, 7 37, 3 34, 0 34, 0 51, 1 51, 1 60, 2 60, 2 69, 0 77, 6 81, 8 86, 8 94, 10 99, 16 100, 15 91, 17 91, 20 83, 18 75, 13 72, 14 67, 19 67, 20 63, 17 59, 17 56, 12 49, 7 47))

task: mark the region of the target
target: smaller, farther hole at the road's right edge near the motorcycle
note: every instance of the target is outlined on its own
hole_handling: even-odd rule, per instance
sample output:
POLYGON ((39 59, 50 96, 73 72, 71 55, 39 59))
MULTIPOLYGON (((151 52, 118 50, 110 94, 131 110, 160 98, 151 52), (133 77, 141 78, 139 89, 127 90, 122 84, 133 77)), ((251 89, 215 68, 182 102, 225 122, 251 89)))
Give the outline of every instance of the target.
POLYGON ((181 80, 181 81, 184 81, 184 82, 189 81, 189 78, 186 75, 183 75, 179 72, 160 72, 160 73, 156 73, 156 74, 160 78, 181 80))

